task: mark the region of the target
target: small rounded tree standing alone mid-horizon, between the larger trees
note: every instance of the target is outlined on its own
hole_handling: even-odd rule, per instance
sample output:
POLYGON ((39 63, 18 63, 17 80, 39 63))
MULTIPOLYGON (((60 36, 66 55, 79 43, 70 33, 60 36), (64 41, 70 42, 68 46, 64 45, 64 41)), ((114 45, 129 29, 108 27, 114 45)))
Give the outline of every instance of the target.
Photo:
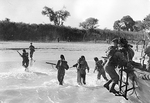
POLYGON ((98 19, 90 17, 90 18, 86 19, 84 22, 81 22, 79 24, 79 27, 89 30, 89 29, 97 28, 98 27, 97 24, 98 24, 98 19))

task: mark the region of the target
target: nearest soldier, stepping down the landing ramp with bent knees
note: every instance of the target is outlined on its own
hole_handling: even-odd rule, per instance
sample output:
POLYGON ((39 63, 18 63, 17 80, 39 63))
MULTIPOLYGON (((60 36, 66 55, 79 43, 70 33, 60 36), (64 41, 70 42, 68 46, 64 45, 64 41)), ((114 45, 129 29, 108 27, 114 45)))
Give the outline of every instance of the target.
MULTIPOLYGON (((128 72, 132 72, 133 66, 130 64, 130 61, 127 60, 125 54, 121 50, 118 50, 119 39, 114 39, 112 41, 114 46, 108 52, 108 60, 104 66, 105 71, 109 74, 110 80, 104 84, 104 87, 107 88, 110 92, 119 93, 115 90, 115 85, 119 82, 119 75, 116 72, 117 67, 126 67, 128 72), (110 89, 109 85, 112 83, 110 89)), ((130 57, 131 59, 132 57, 130 57)))

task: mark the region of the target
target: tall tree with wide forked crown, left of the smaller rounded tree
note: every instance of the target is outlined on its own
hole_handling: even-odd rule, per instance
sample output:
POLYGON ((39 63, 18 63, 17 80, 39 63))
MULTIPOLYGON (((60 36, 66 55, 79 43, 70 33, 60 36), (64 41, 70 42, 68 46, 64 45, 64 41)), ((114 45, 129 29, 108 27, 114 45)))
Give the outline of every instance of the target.
POLYGON ((53 22, 54 25, 58 26, 63 25, 66 18, 70 16, 70 13, 67 10, 54 11, 52 8, 49 8, 47 6, 44 7, 42 14, 48 16, 50 22, 53 22))

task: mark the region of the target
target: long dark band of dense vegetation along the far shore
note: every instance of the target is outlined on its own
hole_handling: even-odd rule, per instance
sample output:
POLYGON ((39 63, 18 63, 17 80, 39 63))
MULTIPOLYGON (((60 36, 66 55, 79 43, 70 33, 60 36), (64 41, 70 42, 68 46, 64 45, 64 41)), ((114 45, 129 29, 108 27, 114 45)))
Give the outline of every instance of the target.
POLYGON ((51 24, 25 24, 0 21, 0 40, 23 40, 23 41, 91 41, 112 40, 115 37, 126 37, 127 39, 139 40, 143 37, 139 32, 114 31, 109 29, 84 30, 51 24))

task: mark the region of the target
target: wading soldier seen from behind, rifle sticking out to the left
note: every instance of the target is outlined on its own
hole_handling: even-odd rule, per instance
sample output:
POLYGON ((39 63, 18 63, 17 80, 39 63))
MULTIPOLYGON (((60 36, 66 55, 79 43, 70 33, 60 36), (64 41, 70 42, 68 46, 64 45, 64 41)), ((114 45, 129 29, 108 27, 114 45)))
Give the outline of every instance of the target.
POLYGON ((57 79, 59 81, 59 85, 63 85, 63 80, 64 80, 64 76, 65 76, 65 69, 66 70, 69 69, 67 61, 65 61, 64 55, 60 55, 60 60, 58 60, 58 62, 56 64, 56 68, 58 70, 57 79))

